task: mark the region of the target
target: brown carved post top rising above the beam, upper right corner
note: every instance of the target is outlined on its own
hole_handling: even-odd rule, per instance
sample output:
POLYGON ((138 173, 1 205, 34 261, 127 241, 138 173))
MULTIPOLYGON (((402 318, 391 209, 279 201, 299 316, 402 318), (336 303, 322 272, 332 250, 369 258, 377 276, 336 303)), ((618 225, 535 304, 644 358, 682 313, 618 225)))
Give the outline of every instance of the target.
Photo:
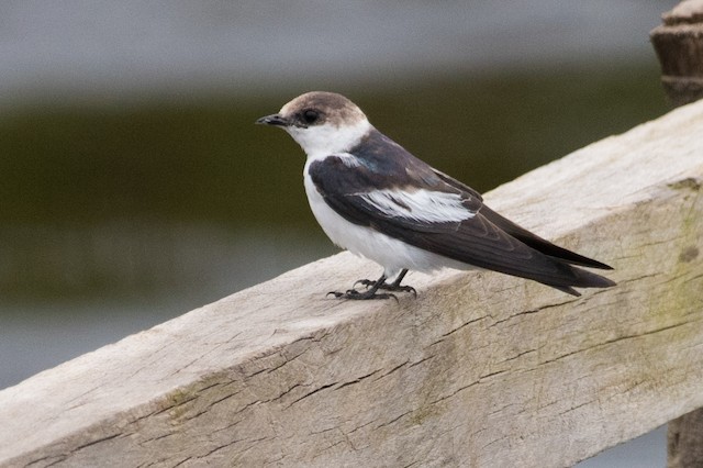
POLYGON ((703 0, 687 0, 662 15, 651 42, 661 64, 661 82, 674 105, 703 98, 703 0))

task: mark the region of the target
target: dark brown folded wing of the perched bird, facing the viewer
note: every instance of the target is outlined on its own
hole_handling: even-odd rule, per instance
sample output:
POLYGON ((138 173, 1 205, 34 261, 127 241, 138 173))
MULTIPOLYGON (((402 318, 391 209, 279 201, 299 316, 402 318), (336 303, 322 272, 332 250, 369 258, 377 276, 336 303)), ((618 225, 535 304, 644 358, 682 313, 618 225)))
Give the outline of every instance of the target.
POLYGON ((420 160, 411 165, 405 161, 402 171, 405 177, 401 177, 400 169, 398 177, 389 177, 388 172, 379 174, 364 164, 345 164, 339 157, 315 161, 309 171, 326 203, 347 221, 415 247, 480 268, 533 279, 572 294, 578 294, 572 286, 612 286, 605 278, 573 268, 512 236, 482 214, 486 207, 475 191, 447 182, 448 176, 416 161, 420 160), (425 167, 432 170, 432 177, 425 167), (393 186, 389 179, 401 183, 393 186), (369 197, 379 187, 387 193, 382 204, 369 197), (456 196, 466 216, 458 219, 456 210, 451 212, 455 215, 447 219, 425 213, 413 215, 412 197, 421 190, 425 197, 429 194, 429 204, 436 200, 437 205, 442 205, 450 194, 456 196))

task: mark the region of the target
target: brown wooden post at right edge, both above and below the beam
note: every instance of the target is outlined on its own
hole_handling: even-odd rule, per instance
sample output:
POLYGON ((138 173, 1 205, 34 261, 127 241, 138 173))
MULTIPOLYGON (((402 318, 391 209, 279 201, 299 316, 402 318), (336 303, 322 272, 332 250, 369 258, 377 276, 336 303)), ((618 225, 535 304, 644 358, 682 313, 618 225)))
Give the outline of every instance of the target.
MULTIPOLYGON (((669 100, 682 105, 703 98, 703 0, 683 1, 662 18, 651 41, 669 100)), ((669 468, 703 467, 703 409, 671 421, 667 438, 669 468)))

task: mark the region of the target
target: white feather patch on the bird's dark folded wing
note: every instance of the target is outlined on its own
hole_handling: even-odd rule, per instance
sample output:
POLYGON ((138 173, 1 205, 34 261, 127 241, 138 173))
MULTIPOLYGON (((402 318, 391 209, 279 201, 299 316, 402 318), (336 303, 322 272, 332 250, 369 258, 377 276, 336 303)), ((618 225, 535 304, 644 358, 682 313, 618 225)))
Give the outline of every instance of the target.
POLYGON ((451 223, 473 218, 476 213, 461 204, 458 193, 425 189, 377 190, 362 193, 367 202, 387 216, 408 218, 426 223, 451 223))

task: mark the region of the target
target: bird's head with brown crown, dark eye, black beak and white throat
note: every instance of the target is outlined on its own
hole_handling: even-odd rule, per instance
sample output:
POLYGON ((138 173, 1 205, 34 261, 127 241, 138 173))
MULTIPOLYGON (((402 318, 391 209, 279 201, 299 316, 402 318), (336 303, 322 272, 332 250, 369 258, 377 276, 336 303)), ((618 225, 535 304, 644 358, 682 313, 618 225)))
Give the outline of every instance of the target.
POLYGON ((309 157, 344 153, 372 129, 354 102, 334 92, 306 92, 283 105, 279 113, 256 123, 280 126, 309 157))

